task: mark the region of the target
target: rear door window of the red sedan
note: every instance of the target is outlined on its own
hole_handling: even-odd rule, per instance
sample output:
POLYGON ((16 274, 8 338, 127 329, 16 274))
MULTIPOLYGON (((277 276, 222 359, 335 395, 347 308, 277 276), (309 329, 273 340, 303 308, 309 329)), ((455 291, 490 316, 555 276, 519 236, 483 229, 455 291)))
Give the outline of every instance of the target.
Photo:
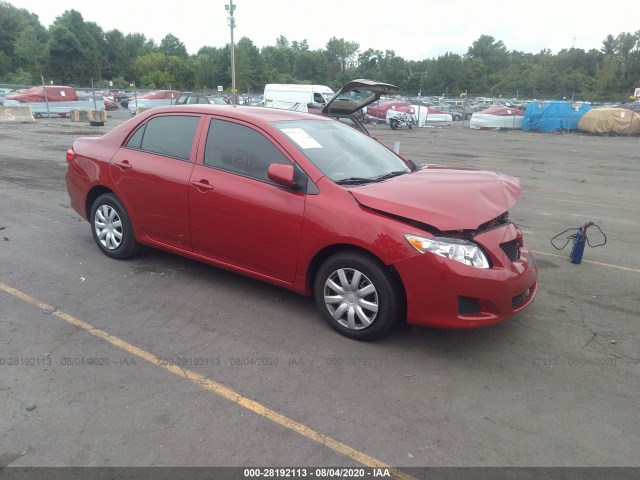
POLYGON ((197 116, 154 117, 133 134, 127 147, 189 160, 199 122, 197 116))

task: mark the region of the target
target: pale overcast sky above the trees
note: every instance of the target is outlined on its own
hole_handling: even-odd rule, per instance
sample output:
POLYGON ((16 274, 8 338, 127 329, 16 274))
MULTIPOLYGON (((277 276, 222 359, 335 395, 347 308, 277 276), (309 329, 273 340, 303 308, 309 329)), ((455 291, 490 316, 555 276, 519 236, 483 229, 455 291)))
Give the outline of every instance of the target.
MULTIPOLYGON (((191 54, 202 46, 230 42, 225 5, 229 0, 8 0, 38 15, 49 27, 66 10, 103 30, 143 33, 160 43, 168 33, 191 54)), ((393 50, 405 60, 463 55, 481 35, 501 40, 508 50, 538 53, 548 48, 599 50, 607 35, 640 29, 637 2, 585 0, 234 0, 234 39, 258 47, 307 40, 322 49, 331 37, 357 42, 360 50, 393 50)))

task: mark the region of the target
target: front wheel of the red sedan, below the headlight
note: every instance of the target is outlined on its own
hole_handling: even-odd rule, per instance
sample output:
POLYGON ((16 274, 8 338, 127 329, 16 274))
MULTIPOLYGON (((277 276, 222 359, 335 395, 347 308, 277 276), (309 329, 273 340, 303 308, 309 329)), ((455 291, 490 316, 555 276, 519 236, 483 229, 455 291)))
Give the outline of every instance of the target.
POLYGON ((398 280, 361 252, 342 251, 327 258, 316 274, 314 296, 331 328, 356 340, 381 337, 404 315, 398 280))

